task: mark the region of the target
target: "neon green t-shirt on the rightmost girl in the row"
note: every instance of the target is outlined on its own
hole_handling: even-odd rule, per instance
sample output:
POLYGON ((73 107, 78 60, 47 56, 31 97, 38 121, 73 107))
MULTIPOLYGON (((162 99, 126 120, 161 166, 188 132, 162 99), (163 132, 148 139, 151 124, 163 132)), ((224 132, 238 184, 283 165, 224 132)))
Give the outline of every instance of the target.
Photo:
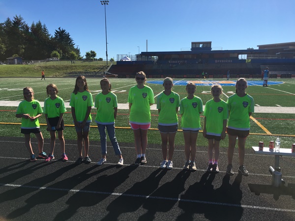
POLYGON ((250 130, 249 112, 254 112, 253 97, 248 94, 244 97, 233 94, 228 98, 227 105, 230 111, 227 127, 240 131, 250 130))

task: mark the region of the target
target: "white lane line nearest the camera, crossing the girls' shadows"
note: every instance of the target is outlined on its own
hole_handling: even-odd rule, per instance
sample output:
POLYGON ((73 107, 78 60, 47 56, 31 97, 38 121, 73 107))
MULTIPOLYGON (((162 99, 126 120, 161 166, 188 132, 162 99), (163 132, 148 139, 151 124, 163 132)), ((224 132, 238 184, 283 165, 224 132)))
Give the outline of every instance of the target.
POLYGON ((93 194, 104 194, 104 195, 115 195, 115 196, 130 196, 130 197, 139 197, 139 198, 146 198, 146 199, 151 198, 151 199, 171 200, 171 201, 177 201, 177 202, 182 201, 182 202, 209 204, 209 205, 242 207, 242 208, 247 208, 247 209, 261 209, 261 210, 274 210, 274 211, 282 211, 282 212, 295 212, 295 210, 291 210, 291 209, 280 209, 280 208, 264 207, 264 206, 250 206, 250 205, 233 204, 233 203, 209 202, 209 201, 203 201, 203 200, 181 199, 181 198, 171 198, 171 197, 151 196, 151 195, 127 194, 127 193, 108 193, 108 192, 101 192, 101 191, 85 191, 85 190, 77 190, 77 189, 62 189, 62 188, 37 187, 37 186, 25 186, 25 185, 18 185, 18 184, 2 184, 2 183, 0 183, 0 186, 31 188, 31 189, 37 189, 37 190, 53 190, 53 191, 73 192, 73 193, 79 192, 79 193, 93 193, 93 194))

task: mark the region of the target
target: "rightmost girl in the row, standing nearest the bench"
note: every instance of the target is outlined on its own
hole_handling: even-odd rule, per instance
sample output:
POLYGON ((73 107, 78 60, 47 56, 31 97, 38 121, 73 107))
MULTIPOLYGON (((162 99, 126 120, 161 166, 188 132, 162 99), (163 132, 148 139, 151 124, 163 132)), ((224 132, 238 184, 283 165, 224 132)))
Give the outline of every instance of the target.
POLYGON ((236 138, 238 146, 238 171, 244 176, 248 176, 249 172, 244 166, 245 158, 245 142, 250 132, 250 116, 254 112, 254 99, 245 92, 247 81, 240 78, 236 82, 236 93, 227 100, 229 109, 229 120, 227 123, 227 133, 229 136, 228 148, 228 166, 226 172, 233 175, 233 157, 236 147, 236 138))

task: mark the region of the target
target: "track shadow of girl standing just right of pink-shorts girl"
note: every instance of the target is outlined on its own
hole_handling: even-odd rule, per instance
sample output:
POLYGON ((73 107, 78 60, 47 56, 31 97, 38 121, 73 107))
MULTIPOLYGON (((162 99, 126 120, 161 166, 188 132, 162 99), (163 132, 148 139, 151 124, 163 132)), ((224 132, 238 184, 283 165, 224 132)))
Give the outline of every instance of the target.
POLYGON ((167 169, 158 168, 145 180, 135 183, 108 205, 107 210, 109 213, 102 221, 116 221, 123 213, 137 211, 147 200, 147 196, 158 188, 161 179, 166 173, 167 169))

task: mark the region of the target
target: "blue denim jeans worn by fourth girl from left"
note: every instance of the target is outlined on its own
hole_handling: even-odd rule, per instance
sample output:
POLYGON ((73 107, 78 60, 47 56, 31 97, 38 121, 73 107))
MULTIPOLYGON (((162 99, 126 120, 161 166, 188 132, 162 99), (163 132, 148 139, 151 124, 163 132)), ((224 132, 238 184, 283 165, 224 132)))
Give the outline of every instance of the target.
POLYGON ((98 132, 100 135, 100 145, 101 145, 101 154, 107 154, 107 135, 106 128, 108 131, 109 138, 112 142, 114 151, 116 155, 121 155, 121 150, 115 135, 115 124, 97 124, 98 132))

